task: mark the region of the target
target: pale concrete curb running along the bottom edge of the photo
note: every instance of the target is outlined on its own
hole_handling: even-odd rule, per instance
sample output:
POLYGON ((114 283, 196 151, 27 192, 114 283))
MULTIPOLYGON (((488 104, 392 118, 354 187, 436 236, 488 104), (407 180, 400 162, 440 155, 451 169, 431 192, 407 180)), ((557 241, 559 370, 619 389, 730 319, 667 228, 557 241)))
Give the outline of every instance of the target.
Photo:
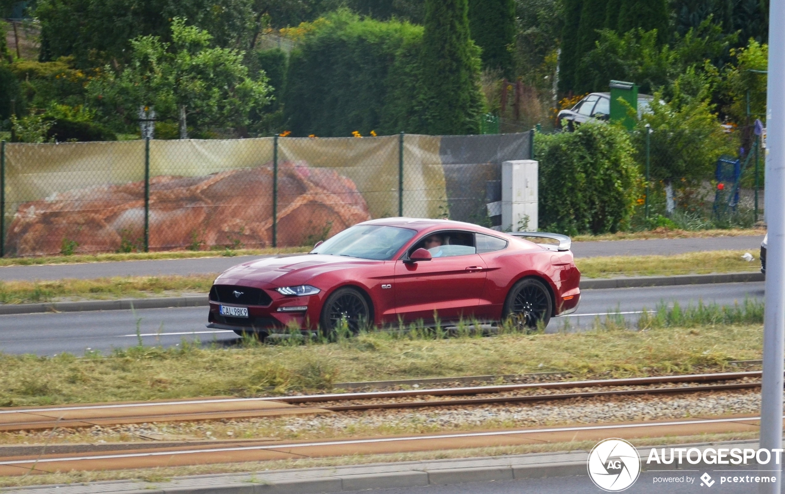
MULTIPOLYGON (((756 447, 756 441, 724 441, 677 447, 756 447)), ((663 445, 656 446, 657 448, 663 445)), ((666 446, 671 447, 671 446, 666 446)), ((645 461, 649 447, 638 448, 645 461)), ((72 485, 39 485, 0 489, 0 492, 35 494, 315 494, 366 489, 452 485, 480 481, 509 481, 587 475, 587 451, 532 453, 489 458, 437 459, 400 463, 372 463, 342 467, 265 470, 255 474, 195 475, 173 478, 165 484, 143 481, 101 481, 72 485)), ((703 464, 689 467, 710 467, 703 464)), ((662 466, 644 470, 660 470, 662 466)), ((587 482, 588 479, 587 479, 587 482)), ((588 486, 588 485, 587 485, 588 486)))

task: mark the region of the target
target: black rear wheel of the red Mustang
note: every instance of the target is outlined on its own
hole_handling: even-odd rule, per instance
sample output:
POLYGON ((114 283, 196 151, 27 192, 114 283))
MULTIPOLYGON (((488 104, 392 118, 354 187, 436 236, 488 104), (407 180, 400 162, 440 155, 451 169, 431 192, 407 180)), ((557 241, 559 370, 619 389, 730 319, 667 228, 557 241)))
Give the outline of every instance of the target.
POLYGON ((529 331, 537 329, 538 323, 547 326, 552 312, 553 300, 546 285, 535 278, 524 278, 509 290, 502 319, 529 331))

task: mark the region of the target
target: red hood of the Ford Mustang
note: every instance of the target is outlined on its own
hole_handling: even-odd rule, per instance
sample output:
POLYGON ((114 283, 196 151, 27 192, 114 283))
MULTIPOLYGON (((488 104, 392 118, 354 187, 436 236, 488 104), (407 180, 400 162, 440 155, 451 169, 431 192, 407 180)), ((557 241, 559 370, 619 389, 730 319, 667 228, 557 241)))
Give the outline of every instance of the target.
POLYGON ((246 280, 269 283, 273 286, 305 285, 312 278, 329 271, 362 267, 384 261, 356 257, 305 254, 302 256, 272 257, 249 261, 230 267, 216 278, 216 283, 246 280))

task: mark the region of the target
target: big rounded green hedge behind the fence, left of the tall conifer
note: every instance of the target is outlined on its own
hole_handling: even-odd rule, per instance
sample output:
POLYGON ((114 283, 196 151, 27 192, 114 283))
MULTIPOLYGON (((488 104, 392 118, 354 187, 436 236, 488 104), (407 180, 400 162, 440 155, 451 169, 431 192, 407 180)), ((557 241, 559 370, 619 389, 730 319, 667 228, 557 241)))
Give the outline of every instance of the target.
POLYGON ((351 136, 355 130, 363 136, 371 130, 396 132, 412 95, 392 100, 389 88, 400 89, 392 82, 413 70, 422 27, 361 20, 345 10, 325 20, 312 24, 290 53, 282 98, 288 129, 294 136, 324 137, 351 136))

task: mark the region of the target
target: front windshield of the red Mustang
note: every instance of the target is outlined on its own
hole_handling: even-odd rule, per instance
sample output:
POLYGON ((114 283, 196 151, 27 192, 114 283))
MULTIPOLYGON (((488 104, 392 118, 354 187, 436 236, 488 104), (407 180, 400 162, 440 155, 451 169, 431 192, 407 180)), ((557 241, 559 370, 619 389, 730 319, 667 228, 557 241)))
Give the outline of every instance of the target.
POLYGON ((311 253, 389 260, 416 233, 408 228, 356 225, 341 231, 311 253))

